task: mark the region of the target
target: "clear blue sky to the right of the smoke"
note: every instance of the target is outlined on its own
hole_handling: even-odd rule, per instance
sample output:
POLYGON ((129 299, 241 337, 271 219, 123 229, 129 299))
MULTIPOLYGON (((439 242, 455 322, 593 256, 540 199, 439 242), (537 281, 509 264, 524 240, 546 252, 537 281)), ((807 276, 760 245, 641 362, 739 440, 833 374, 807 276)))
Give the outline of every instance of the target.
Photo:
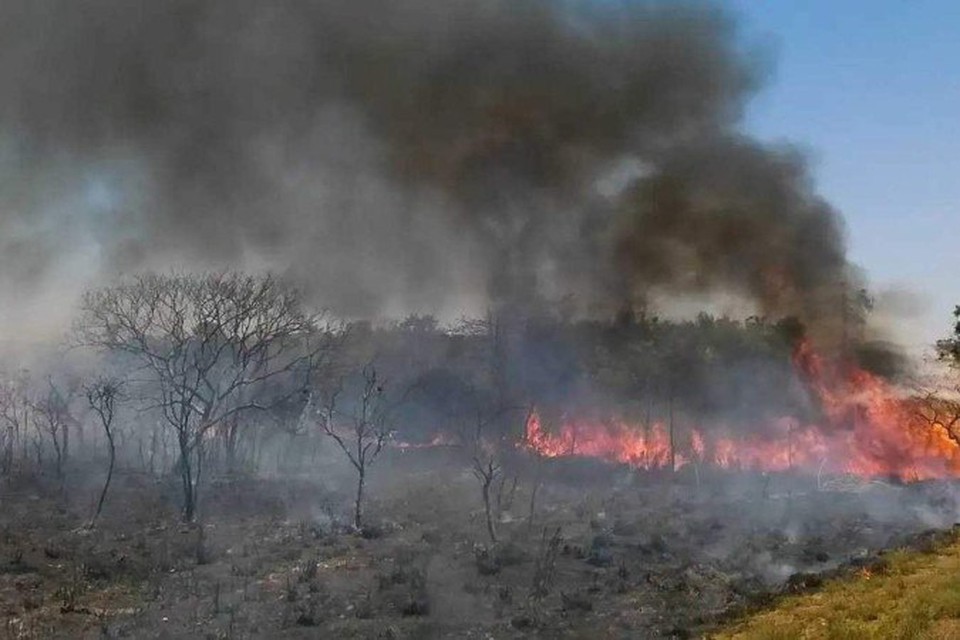
POLYGON ((810 153, 875 289, 922 297, 901 338, 943 336, 960 304, 960 2, 724 4, 773 53, 748 128, 810 153))

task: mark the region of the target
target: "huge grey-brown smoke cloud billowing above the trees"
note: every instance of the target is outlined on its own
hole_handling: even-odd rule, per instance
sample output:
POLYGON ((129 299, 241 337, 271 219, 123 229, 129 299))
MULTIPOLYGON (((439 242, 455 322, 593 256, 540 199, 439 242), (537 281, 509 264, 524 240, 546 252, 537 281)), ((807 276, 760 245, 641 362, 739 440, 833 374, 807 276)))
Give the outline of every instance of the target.
POLYGON ((740 131, 765 61, 710 5, 8 0, 0 61, 7 294, 239 266, 344 314, 814 317, 845 277, 804 160, 740 131))

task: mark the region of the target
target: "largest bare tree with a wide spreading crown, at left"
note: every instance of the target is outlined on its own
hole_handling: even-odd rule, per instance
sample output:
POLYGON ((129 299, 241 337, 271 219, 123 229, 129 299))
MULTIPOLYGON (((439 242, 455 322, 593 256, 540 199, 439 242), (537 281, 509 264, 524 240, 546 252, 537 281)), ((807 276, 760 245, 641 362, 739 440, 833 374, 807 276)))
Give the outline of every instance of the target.
POLYGON ((87 292, 76 327, 81 344, 133 362, 147 406, 175 434, 187 520, 196 515, 205 439, 297 393, 334 334, 296 290, 235 272, 147 274, 87 292))

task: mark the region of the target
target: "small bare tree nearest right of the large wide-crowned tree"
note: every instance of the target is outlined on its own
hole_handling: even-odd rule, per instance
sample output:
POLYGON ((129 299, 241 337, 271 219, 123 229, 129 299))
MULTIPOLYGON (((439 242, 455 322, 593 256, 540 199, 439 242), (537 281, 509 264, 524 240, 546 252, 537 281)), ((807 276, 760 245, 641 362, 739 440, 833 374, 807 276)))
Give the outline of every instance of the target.
POLYGON ((353 407, 341 409, 338 400, 342 381, 328 394, 320 408, 320 428, 339 445, 357 472, 357 492, 354 500, 353 526, 363 528, 363 496, 369 466, 377 459, 390 438, 390 405, 384 386, 371 364, 363 367, 358 398, 353 407))

